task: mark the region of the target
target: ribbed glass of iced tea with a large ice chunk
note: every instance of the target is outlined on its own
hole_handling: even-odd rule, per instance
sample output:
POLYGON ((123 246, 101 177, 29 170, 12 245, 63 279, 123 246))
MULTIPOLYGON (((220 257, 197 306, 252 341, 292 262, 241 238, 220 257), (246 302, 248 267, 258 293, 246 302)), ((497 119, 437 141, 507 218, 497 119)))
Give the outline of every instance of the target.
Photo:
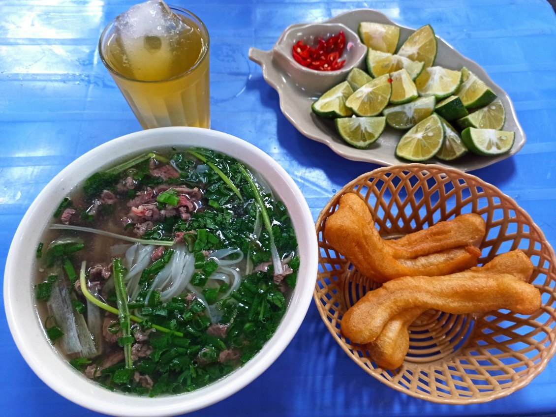
POLYGON ((195 14, 137 4, 108 24, 98 49, 144 129, 210 127, 209 32, 195 14))

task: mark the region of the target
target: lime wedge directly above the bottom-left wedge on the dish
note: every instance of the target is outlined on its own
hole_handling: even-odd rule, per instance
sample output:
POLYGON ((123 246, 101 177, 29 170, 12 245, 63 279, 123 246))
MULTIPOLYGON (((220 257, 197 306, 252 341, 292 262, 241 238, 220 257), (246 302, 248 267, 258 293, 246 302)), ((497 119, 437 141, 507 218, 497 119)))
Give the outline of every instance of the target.
POLYGON ((389 76, 383 75, 369 81, 347 98, 346 107, 357 116, 378 115, 390 100, 392 85, 388 80, 389 76))

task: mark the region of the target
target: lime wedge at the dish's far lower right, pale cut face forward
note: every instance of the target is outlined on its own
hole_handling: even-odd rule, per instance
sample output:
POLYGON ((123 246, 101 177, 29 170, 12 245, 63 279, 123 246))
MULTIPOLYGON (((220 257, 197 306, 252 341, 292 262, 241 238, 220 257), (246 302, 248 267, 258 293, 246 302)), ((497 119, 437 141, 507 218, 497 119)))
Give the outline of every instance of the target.
POLYGON ((494 129, 466 127, 461 132, 461 140, 470 151, 478 155, 500 155, 514 145, 515 133, 494 129))

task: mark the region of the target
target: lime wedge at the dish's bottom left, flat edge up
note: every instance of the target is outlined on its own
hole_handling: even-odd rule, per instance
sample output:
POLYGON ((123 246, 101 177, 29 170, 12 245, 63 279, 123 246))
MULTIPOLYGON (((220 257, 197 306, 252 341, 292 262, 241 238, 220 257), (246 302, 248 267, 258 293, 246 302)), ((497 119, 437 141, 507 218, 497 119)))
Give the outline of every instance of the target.
POLYGON ((344 141, 356 148, 368 148, 386 126, 385 117, 340 117, 334 123, 344 141))

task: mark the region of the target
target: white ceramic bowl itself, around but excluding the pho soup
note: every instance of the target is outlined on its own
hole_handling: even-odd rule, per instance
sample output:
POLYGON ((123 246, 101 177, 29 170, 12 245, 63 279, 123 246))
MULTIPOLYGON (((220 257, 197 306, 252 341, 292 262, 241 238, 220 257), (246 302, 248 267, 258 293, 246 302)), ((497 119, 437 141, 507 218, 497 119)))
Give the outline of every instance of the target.
POLYGON ((87 152, 64 168, 38 195, 19 225, 4 275, 4 304, 13 339, 23 358, 47 385, 65 398, 115 416, 170 416, 201 409, 230 396, 265 371, 294 337, 311 302, 317 268, 317 240, 309 207, 295 182, 259 148, 237 137, 195 127, 164 127, 119 137, 87 152), (191 393, 160 398, 116 393, 74 370, 54 351, 34 309, 32 276, 37 247, 52 212, 69 190, 103 166, 129 153, 163 146, 199 146, 227 153, 259 171, 284 201, 299 242, 301 266, 290 305, 276 334, 242 368, 191 393))

